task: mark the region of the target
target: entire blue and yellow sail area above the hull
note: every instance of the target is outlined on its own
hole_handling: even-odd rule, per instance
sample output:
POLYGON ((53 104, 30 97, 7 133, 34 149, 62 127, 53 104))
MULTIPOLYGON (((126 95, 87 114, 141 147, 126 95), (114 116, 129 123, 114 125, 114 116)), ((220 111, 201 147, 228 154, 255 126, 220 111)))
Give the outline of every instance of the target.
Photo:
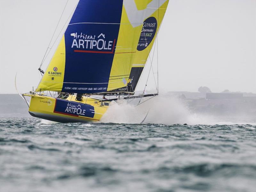
POLYGON ((36 91, 134 93, 168 0, 80 0, 36 91))

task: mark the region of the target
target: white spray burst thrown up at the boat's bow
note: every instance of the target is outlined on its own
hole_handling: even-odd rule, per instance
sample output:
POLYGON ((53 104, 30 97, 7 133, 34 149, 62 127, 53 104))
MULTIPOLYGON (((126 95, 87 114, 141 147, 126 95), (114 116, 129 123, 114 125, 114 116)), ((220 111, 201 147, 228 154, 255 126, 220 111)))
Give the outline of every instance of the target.
MULTIPOLYGON (((143 100, 141 100, 141 102, 143 102, 143 100)), ((160 95, 138 106, 127 104, 126 101, 120 102, 119 104, 113 103, 101 118, 100 122, 139 124, 147 113, 148 116, 143 122, 144 124, 246 124, 243 120, 223 121, 223 119, 217 116, 196 114, 190 111, 187 104, 179 98, 174 96, 165 98, 160 95)), ((252 120, 250 124, 256 123, 252 120)))

